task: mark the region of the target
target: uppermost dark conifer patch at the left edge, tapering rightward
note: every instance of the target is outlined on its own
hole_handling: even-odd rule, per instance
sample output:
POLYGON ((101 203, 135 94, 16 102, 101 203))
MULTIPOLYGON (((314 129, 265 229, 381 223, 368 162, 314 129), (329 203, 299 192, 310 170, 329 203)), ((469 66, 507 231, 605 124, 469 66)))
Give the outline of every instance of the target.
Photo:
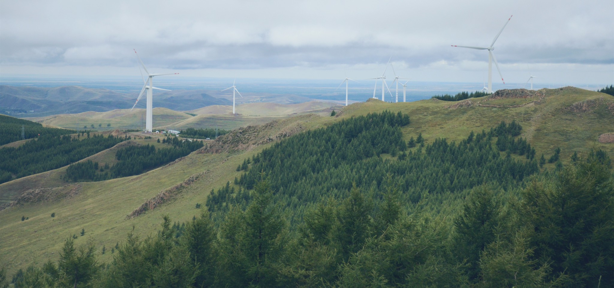
POLYGON ((22 140, 21 132, 23 132, 23 136, 26 139, 36 138, 39 137, 39 135, 59 136, 77 133, 77 131, 74 130, 47 128, 43 127, 41 123, 5 115, 0 115, 0 126, 2 127, 0 129, 0 146, 22 140))

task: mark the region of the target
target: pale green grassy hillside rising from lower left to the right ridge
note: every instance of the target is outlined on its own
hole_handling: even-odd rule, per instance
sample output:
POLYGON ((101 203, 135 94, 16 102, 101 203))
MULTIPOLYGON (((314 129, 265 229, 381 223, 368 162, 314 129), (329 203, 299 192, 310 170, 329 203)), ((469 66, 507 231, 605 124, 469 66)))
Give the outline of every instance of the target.
MULTIPOLYGON (((458 141, 467 137, 470 131, 488 130, 500 121, 515 119, 523 126, 521 136, 537 150, 537 156, 543 153, 547 158, 557 147, 561 148, 564 161, 573 151, 586 154, 591 148, 600 148, 610 156, 614 155, 614 143, 597 141, 599 135, 614 132, 614 97, 603 93, 567 87, 537 92, 521 89, 501 91, 492 96, 459 102, 429 99, 392 104, 369 100, 344 107, 335 117, 303 115, 238 129, 181 161, 142 175, 69 184, 22 195, 13 207, 0 211, 0 235, 3 235, 0 238, 0 265, 7 265, 9 271, 15 271, 29 263, 55 260, 63 240, 78 235, 81 229, 86 233, 76 243, 91 239, 99 248, 106 246, 107 253, 99 255, 99 259, 109 261, 113 256, 109 250, 125 239, 133 225, 137 235, 149 235, 157 229, 165 214, 174 221, 192 219, 199 213, 195 209, 196 203, 203 204, 211 189, 232 182, 241 174, 236 167, 243 159, 271 146, 271 143, 341 119, 383 110, 410 115, 411 124, 402 127, 405 140, 422 133, 428 143, 439 137, 458 141), (159 195, 163 197, 157 197, 159 195), (152 199, 152 203, 157 203, 154 210, 138 217, 126 217, 152 199), (50 217, 51 213, 55 213, 55 218, 50 217), (21 221, 22 216, 29 219, 21 221)), ((233 117, 236 119, 222 118, 219 121, 247 121, 247 116, 233 117)), ((551 168, 553 164, 546 164, 546 167, 551 168)), ((32 181, 44 178, 42 175, 29 177, 32 181)))

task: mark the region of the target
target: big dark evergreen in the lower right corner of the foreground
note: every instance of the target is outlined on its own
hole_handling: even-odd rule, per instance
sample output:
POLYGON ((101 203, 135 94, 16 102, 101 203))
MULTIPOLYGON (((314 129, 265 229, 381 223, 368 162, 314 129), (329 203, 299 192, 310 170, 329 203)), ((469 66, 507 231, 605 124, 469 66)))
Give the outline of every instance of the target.
MULTIPOLYGON (((593 151, 593 154, 602 154, 593 151)), ((614 286, 614 184, 610 159, 589 157, 523 192, 524 219, 534 227, 535 259, 564 273, 569 287, 614 286)))

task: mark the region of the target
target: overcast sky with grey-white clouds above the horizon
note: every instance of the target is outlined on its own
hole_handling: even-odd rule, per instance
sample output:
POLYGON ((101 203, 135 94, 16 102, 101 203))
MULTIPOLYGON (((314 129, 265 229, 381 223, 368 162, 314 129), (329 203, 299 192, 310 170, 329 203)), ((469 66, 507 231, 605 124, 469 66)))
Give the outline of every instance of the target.
POLYGON ((0 1, 0 75, 614 83, 614 1, 0 1), (387 72, 388 76, 392 73, 387 72), (493 65, 493 81, 500 77, 493 65), (537 80, 536 80, 537 81, 537 80))

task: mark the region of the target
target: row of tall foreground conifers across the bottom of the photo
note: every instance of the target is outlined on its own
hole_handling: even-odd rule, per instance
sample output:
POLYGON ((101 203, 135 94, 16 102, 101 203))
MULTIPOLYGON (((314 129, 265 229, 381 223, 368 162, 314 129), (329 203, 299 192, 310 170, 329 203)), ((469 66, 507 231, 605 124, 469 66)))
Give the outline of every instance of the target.
MULTIPOLYGON (((600 155, 600 156, 599 156, 600 155)), ((66 240, 57 263, 31 265, 15 287, 612 287, 614 179, 591 153, 533 177, 519 195, 483 184, 457 213, 448 202, 402 205, 402 183, 353 186, 310 205, 291 225, 260 175, 245 209, 157 235, 133 232, 101 265, 93 244, 66 240), (504 201, 505 200, 505 201, 504 201), (447 205, 447 206, 446 206, 447 205)), ((0 281, 3 277, 0 271, 0 281)), ((6 277, 4 277, 6 278, 6 277)), ((5 283, 7 281, 5 280, 5 283)), ((0 286, 2 283, 0 282, 0 286)))

